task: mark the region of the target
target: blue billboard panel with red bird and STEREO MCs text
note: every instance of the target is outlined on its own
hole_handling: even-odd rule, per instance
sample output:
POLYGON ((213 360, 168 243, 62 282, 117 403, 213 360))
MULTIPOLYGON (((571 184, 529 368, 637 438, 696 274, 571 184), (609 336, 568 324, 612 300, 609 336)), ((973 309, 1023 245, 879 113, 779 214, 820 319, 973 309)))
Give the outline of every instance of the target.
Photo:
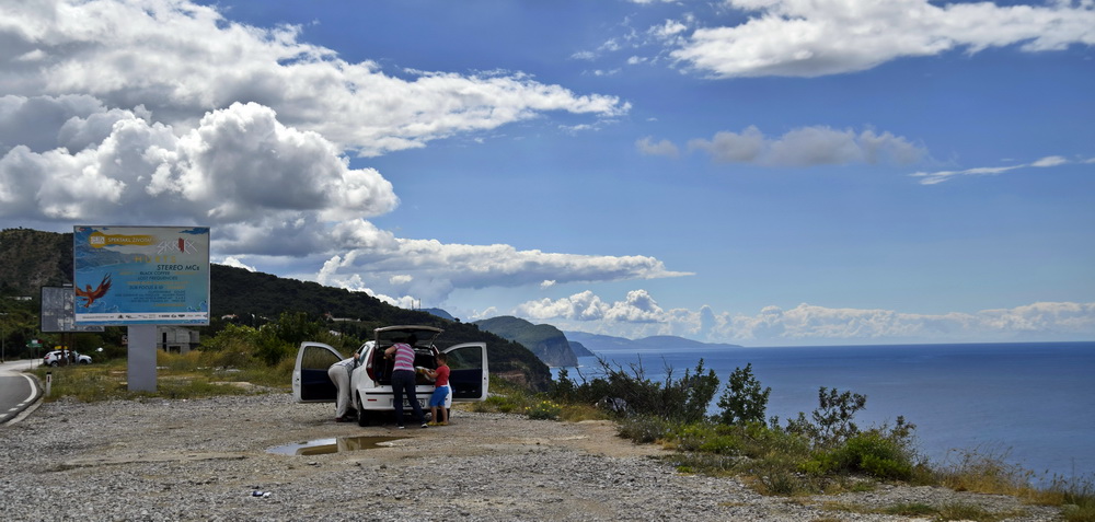
POLYGON ((209 324, 208 227, 76 227, 77 325, 209 324))

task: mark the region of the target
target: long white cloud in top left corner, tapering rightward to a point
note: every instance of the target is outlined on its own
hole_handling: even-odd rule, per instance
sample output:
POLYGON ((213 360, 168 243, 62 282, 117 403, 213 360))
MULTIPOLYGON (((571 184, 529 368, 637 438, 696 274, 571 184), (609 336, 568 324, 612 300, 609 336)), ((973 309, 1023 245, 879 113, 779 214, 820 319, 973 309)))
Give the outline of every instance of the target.
POLYGON ((614 96, 578 95, 520 73, 404 70, 399 78, 300 42, 300 27, 253 27, 185 0, 4 2, 0 21, 0 92, 143 105, 171 126, 255 102, 285 125, 362 155, 543 112, 611 117, 630 108, 614 96))

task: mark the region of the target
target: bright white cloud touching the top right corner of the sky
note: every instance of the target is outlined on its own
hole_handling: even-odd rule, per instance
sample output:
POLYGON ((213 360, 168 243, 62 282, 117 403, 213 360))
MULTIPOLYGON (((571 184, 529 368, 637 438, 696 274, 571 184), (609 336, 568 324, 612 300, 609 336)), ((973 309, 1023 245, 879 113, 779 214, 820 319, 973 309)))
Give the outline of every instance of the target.
POLYGON ((671 51, 715 78, 819 77, 871 69, 903 57, 973 54, 1017 45, 1037 53, 1095 45, 1095 5, 929 0, 724 0, 742 23, 701 27, 671 51))

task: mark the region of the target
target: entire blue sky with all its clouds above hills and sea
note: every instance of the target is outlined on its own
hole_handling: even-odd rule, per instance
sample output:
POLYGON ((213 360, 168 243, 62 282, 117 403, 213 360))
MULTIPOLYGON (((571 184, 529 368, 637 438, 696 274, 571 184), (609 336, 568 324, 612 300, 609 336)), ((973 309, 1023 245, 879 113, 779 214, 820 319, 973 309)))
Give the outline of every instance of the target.
POLYGON ((0 228, 461 321, 1095 340, 1095 1, 0 3, 0 228))

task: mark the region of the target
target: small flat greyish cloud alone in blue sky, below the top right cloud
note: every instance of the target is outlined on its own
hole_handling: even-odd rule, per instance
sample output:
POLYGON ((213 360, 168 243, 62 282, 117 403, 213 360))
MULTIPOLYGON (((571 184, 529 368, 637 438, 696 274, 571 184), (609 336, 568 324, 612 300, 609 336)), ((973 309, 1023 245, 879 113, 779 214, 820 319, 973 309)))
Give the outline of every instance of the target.
MULTIPOLYGON (((676 150, 666 141, 655 146, 649 138, 641 140, 639 147, 676 150)), ((777 138, 765 137, 760 129, 750 126, 741 132, 716 132, 710 140, 689 140, 688 148, 690 151, 706 152, 718 163, 764 166, 908 164, 927 155, 923 148, 890 132, 855 132, 826 126, 802 127, 777 138)))

